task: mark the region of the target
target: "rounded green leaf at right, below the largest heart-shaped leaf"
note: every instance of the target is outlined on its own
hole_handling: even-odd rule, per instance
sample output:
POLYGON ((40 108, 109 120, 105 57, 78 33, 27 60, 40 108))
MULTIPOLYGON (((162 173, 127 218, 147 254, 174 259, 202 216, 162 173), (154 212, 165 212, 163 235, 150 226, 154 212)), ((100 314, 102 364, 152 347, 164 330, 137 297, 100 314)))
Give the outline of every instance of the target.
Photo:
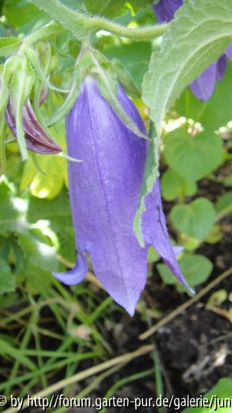
POLYGON ((187 205, 175 205, 170 218, 178 231, 202 242, 213 228, 215 209, 209 200, 198 198, 187 205))

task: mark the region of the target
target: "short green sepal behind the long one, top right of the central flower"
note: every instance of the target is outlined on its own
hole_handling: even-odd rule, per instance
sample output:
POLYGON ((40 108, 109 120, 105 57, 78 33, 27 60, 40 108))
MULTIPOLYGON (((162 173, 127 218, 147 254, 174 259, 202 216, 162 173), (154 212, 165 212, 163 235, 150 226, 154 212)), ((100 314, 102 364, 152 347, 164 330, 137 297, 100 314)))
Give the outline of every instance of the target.
POLYGON ((134 81, 131 75, 126 70, 123 63, 121 63, 117 59, 113 59, 112 66, 114 67, 114 70, 116 72, 118 82, 123 86, 123 89, 125 90, 125 92, 129 96, 131 96, 131 98, 140 98, 141 93, 138 90, 138 87, 136 87, 136 85, 134 84, 134 81))

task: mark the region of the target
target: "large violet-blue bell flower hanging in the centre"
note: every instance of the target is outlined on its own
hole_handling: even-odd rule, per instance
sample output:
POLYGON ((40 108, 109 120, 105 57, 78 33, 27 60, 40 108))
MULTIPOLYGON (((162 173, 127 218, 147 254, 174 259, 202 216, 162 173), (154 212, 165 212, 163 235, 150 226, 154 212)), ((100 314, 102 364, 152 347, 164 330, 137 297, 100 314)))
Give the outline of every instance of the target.
MULTIPOLYGON (((138 128, 145 125, 134 104, 118 86, 118 100, 138 128)), ((178 280, 187 286, 167 233, 160 183, 147 196, 142 218, 145 248, 138 244, 133 220, 143 181, 147 141, 129 131, 99 92, 96 79, 85 77, 80 94, 66 118, 67 153, 81 163, 68 162, 72 218, 78 257, 71 271, 53 273, 61 282, 81 282, 94 273, 112 298, 134 315, 147 279, 149 245, 160 253, 178 280)), ((187 286, 188 287, 188 286, 187 286)))

